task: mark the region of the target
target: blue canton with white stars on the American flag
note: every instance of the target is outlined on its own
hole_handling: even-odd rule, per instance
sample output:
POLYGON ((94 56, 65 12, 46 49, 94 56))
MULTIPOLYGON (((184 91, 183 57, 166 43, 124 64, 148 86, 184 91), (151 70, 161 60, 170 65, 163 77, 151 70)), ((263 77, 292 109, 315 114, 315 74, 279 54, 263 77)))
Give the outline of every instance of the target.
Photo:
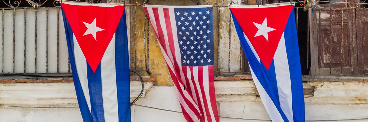
POLYGON ((213 65, 212 7, 176 8, 174 11, 181 65, 213 65))

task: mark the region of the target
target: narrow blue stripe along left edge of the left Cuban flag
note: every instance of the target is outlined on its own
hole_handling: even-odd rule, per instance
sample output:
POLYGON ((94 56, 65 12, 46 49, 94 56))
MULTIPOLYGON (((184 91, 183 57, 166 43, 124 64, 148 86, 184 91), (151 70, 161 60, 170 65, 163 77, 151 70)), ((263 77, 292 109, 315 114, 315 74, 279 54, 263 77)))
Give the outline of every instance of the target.
POLYGON ((61 8, 61 11, 63 13, 63 19, 66 20, 64 21, 64 28, 65 28, 66 39, 67 39, 67 44, 68 44, 68 52, 69 52, 70 66, 71 66, 73 80, 74 80, 75 93, 77 94, 77 98, 78 98, 77 100, 78 100, 79 110, 81 111, 82 119, 84 122, 92 122, 92 116, 91 116, 91 113, 89 112, 89 108, 88 108, 86 98, 82 90, 81 83, 79 82, 77 69, 75 68, 73 31, 70 27, 68 19, 66 18, 64 14, 63 8, 61 8))

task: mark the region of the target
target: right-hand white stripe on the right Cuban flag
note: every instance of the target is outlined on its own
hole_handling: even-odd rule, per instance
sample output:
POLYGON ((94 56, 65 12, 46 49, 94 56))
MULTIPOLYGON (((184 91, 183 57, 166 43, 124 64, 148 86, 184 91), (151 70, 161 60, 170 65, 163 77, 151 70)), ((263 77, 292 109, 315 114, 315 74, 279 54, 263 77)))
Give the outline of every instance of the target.
POLYGON ((277 90, 279 91, 280 107, 285 113, 286 118, 290 122, 293 119, 293 102, 291 98, 291 79, 289 71, 289 62, 287 60, 285 37, 282 33, 279 46, 276 49, 273 57, 276 70, 277 90))

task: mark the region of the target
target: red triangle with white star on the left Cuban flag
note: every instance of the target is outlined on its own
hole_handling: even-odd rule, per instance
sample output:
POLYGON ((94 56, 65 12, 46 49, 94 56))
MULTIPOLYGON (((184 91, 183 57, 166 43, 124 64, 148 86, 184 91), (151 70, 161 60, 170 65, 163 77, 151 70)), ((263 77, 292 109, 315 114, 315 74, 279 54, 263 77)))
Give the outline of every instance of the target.
POLYGON ((96 4, 78 6, 64 3, 61 3, 61 7, 88 64, 95 72, 125 7, 101 7, 96 4))

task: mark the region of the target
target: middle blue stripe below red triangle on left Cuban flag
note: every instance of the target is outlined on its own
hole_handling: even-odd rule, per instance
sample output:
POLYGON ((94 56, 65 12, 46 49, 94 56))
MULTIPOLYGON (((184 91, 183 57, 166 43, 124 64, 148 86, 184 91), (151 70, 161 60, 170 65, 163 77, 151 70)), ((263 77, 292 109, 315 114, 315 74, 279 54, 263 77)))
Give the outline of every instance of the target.
POLYGON ((96 72, 93 72, 88 62, 86 62, 86 64, 89 96, 91 96, 92 118, 94 122, 105 122, 105 114, 103 113, 101 63, 98 64, 96 72))

